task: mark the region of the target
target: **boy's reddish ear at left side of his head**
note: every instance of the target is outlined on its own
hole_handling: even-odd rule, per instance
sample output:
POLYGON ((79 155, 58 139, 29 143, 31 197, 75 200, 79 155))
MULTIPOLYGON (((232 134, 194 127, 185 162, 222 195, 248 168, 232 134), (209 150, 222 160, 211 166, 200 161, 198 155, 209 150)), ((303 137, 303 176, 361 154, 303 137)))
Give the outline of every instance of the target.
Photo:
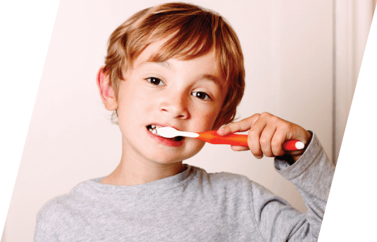
POLYGON ((114 98, 109 76, 103 72, 103 68, 104 66, 99 68, 96 78, 99 95, 107 110, 116 110, 118 108, 118 102, 114 98))

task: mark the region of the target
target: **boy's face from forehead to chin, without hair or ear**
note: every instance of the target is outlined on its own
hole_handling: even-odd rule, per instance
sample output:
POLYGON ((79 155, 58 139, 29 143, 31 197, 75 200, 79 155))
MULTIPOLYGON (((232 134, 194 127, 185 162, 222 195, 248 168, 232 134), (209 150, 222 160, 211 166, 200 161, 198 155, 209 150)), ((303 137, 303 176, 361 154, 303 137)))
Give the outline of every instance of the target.
POLYGON ((204 141, 166 139, 149 131, 152 125, 186 132, 213 129, 228 91, 214 51, 192 60, 171 58, 147 62, 163 42, 149 45, 125 74, 118 91, 118 124, 123 152, 154 163, 175 163, 192 157, 204 141))

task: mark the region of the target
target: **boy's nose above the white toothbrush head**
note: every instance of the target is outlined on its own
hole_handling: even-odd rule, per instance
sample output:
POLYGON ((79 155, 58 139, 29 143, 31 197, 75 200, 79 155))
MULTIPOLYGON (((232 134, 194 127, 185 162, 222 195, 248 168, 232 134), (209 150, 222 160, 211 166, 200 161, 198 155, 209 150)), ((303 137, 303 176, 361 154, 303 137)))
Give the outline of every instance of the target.
POLYGON ((159 108, 161 112, 166 115, 184 120, 190 117, 190 113, 187 109, 187 102, 187 97, 185 97, 184 94, 166 94, 163 97, 159 108))

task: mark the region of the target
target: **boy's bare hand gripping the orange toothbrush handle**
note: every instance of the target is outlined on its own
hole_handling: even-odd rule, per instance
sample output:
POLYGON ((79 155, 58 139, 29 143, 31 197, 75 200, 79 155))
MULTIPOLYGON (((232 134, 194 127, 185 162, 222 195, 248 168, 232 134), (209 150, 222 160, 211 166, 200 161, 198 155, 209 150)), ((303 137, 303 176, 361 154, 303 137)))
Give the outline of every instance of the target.
POLYGON ((231 146, 233 151, 252 151, 257 159, 267 157, 281 156, 284 154, 292 155, 293 160, 297 161, 304 153, 305 149, 300 151, 283 151, 284 141, 297 139, 302 141, 307 147, 311 140, 311 134, 299 125, 271 115, 270 113, 254 114, 239 122, 218 129, 217 134, 224 136, 235 132, 245 132, 247 134, 247 144, 249 147, 231 146))

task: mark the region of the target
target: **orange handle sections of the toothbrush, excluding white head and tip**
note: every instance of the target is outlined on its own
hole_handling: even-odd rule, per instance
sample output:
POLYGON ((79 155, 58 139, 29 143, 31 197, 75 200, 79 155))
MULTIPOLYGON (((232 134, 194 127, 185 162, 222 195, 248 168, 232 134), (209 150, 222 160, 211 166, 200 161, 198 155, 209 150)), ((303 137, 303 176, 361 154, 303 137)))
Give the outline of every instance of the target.
MULTIPOLYGON (((216 130, 199 132, 196 139, 206 141, 209 144, 229 144, 231 146, 249 146, 247 144, 247 135, 245 134, 228 134, 225 136, 218 135, 216 130)), ((284 151, 297 151, 295 144, 298 141, 291 139, 283 143, 284 151)))

